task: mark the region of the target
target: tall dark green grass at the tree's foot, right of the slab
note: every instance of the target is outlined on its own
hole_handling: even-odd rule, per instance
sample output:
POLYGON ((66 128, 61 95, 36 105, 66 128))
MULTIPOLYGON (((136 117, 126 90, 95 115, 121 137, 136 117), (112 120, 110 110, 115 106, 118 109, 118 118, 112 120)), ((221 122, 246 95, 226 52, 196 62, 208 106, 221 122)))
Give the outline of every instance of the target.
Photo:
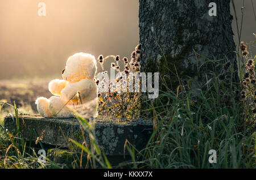
POLYGON ((158 118, 155 135, 132 164, 145 168, 256 168, 256 134, 242 120, 242 103, 232 96, 229 104, 223 103, 220 86, 216 78, 204 91, 191 90, 181 97, 163 92, 154 106, 158 118), (166 99, 172 103, 164 105, 166 99), (208 161, 210 149, 217 151, 216 164, 208 161))

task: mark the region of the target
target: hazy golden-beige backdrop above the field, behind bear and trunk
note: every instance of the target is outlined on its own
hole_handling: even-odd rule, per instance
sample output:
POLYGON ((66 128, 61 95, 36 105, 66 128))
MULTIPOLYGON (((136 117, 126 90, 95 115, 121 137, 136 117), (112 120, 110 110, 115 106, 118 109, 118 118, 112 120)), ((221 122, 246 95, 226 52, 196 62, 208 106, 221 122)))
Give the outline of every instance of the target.
MULTIPOLYGON (((240 28, 243 1, 235 2, 240 28)), ((139 42, 138 8, 138 0, 0 0, 0 79, 60 78, 77 52, 130 57, 139 42), (39 2, 46 3, 44 17, 39 2)), ((244 12, 241 40, 249 42, 256 33, 251 0, 244 12)), ((235 21, 233 32, 237 44, 235 21)))

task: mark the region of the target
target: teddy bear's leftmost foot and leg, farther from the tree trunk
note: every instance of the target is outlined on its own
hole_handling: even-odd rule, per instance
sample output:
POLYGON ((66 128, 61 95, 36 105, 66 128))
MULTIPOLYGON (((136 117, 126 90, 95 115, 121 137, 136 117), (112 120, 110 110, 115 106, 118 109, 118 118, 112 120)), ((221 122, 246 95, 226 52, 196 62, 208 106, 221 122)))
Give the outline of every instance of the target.
POLYGON ((49 100, 45 97, 39 97, 35 101, 37 105, 36 108, 38 109, 38 113, 45 118, 52 118, 52 114, 49 112, 49 100))

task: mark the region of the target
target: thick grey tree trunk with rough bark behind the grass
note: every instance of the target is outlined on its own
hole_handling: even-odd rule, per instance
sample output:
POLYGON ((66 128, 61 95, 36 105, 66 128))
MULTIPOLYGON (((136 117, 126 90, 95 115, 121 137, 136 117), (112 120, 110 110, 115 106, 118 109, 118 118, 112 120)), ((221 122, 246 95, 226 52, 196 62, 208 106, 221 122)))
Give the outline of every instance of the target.
POLYGON ((159 72, 175 89, 177 74, 195 78, 203 85, 207 72, 221 73, 220 63, 230 62, 236 72, 233 77, 238 80, 230 0, 214 1, 217 16, 209 15, 212 0, 139 2, 142 72, 159 72), (226 59, 209 66, 207 59, 195 52, 208 60, 226 59))

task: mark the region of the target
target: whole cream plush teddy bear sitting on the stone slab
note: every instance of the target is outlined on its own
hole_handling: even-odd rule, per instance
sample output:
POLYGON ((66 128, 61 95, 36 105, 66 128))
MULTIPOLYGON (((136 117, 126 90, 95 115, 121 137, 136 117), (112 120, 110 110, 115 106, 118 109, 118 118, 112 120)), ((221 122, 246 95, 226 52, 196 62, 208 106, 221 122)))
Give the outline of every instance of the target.
POLYGON ((54 79, 49 83, 52 97, 39 97, 35 104, 40 115, 45 118, 72 118, 71 107, 76 105, 97 105, 97 85, 94 76, 97 62, 93 55, 76 53, 68 58, 62 70, 63 79, 54 79))

